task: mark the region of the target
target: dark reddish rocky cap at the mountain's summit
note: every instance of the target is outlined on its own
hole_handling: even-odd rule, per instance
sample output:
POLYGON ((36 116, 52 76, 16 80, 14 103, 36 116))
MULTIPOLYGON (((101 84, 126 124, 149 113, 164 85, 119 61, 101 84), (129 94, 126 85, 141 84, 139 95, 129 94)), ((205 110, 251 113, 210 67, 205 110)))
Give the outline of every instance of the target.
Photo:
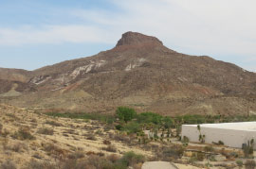
POLYGON ((155 45, 163 44, 155 37, 151 37, 151 36, 143 35, 141 33, 130 31, 130 32, 126 32, 126 33, 122 34, 122 37, 116 46, 148 44, 148 43, 155 44, 155 45))

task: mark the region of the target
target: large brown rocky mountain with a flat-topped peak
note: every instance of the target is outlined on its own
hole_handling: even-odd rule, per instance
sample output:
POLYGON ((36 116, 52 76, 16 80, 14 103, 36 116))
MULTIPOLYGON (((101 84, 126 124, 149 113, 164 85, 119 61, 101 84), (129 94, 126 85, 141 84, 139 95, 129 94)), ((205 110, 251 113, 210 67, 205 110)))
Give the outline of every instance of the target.
POLYGON ((255 73, 178 53, 135 32, 124 33, 113 49, 98 55, 31 72, 0 69, 0 79, 1 101, 20 107, 113 112, 130 106, 162 114, 233 114, 249 108, 256 113, 255 73))

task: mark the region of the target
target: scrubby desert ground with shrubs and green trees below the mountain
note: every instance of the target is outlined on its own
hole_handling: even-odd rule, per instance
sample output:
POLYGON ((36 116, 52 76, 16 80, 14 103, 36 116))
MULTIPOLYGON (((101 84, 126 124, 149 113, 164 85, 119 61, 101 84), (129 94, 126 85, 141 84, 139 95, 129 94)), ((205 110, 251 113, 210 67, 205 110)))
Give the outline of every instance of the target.
POLYGON ((222 121, 228 117, 167 117, 125 107, 114 114, 39 113, 2 107, 6 109, 0 109, 1 169, 137 169, 144 161, 173 161, 179 166, 190 164, 199 168, 253 166, 254 141, 244 149, 233 149, 219 143, 190 143, 178 134, 184 123, 222 121))

